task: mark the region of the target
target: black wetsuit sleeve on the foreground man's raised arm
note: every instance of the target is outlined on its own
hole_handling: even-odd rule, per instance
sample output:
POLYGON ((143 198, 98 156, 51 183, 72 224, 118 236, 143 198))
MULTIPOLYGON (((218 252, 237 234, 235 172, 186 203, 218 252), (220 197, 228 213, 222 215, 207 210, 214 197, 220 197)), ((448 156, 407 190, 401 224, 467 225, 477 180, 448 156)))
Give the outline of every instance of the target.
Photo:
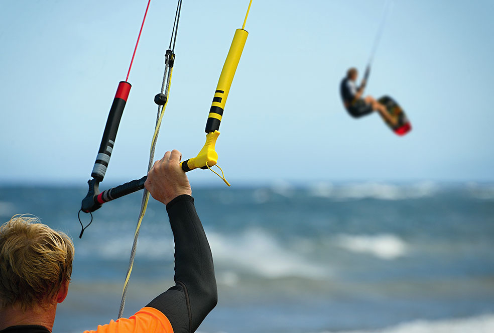
POLYGON ((175 286, 147 306, 163 312, 174 333, 192 333, 216 306, 213 259, 190 195, 180 195, 166 209, 175 241, 175 286))

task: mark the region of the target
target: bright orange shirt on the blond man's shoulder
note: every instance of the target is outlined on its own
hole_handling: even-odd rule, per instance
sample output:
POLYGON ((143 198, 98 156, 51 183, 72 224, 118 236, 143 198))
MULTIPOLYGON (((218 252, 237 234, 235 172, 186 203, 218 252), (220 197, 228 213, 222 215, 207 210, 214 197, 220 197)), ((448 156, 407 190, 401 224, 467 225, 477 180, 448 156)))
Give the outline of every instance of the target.
POLYGON ((111 320, 109 324, 98 325, 96 330, 85 330, 84 333, 173 333, 170 321, 160 310, 143 307, 130 318, 111 320))

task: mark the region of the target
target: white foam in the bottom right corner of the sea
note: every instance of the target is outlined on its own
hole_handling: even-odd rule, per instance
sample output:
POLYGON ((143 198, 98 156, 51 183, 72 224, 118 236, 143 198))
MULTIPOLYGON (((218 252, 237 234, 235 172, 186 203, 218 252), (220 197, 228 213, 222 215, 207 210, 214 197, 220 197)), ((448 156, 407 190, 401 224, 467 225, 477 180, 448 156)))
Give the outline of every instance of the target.
MULTIPOLYGON (((379 330, 338 331, 337 333, 492 333, 494 314, 484 314, 469 318, 442 320, 415 320, 379 330)), ((321 333, 336 333, 324 331, 321 333)))

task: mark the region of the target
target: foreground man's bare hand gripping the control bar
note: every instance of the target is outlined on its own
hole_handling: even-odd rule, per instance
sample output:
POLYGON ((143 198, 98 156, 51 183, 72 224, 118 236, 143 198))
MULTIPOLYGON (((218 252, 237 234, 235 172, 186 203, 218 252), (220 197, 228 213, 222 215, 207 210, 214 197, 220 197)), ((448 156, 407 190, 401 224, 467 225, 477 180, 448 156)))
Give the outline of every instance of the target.
POLYGON ((192 195, 189 179, 180 167, 181 159, 182 153, 178 150, 166 152, 148 172, 144 187, 153 198, 164 204, 182 194, 192 195))

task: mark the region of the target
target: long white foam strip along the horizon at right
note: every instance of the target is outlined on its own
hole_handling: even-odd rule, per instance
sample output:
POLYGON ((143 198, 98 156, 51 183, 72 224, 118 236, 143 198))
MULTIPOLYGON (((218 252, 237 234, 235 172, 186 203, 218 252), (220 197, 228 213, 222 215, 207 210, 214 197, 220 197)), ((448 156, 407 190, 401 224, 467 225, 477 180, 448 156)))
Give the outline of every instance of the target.
POLYGON ((432 182, 420 182, 412 185, 395 185, 379 182, 354 183, 334 186, 331 183, 316 183, 309 187, 313 196, 335 199, 403 200, 433 195, 438 186, 432 182))

